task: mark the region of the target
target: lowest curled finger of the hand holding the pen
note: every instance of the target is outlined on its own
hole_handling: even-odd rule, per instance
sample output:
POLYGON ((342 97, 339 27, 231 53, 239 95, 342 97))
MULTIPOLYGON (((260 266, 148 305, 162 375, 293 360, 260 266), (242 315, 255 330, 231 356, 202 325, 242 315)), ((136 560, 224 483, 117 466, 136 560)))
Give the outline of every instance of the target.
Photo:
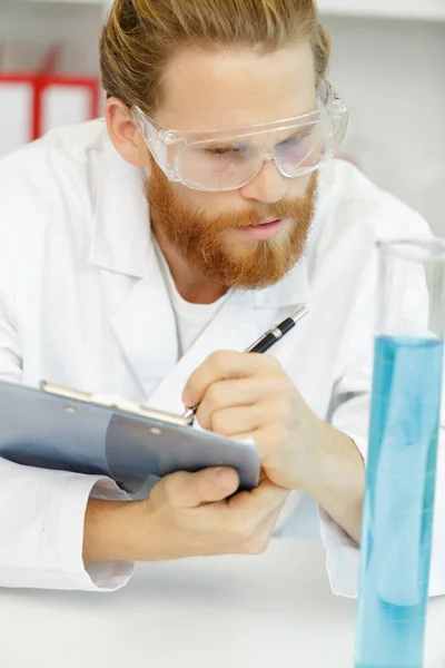
POLYGON ((286 425, 289 420, 290 404, 278 399, 263 401, 250 406, 229 407, 207 413, 199 407, 197 418, 199 424, 222 436, 235 436, 240 433, 254 432, 261 428, 286 425))

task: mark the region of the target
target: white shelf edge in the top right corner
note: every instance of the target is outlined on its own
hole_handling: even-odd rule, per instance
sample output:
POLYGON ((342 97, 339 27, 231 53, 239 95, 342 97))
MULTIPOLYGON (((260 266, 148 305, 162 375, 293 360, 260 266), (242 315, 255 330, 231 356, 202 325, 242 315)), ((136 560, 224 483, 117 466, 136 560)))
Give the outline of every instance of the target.
POLYGON ((445 0, 318 0, 322 13, 445 21, 445 0))

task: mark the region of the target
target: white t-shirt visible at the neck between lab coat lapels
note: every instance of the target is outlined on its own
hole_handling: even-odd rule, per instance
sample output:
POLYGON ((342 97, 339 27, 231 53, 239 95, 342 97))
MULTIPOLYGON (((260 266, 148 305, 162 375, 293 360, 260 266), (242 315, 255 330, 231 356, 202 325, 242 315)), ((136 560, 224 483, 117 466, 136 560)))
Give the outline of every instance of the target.
POLYGON ((222 295, 222 297, 212 304, 190 304, 190 302, 186 302, 177 291, 170 267, 164 257, 162 250, 155 238, 154 242, 159 266, 175 311, 179 356, 181 357, 188 348, 191 347, 200 333, 204 332, 207 325, 214 320, 230 293, 228 292, 222 295))

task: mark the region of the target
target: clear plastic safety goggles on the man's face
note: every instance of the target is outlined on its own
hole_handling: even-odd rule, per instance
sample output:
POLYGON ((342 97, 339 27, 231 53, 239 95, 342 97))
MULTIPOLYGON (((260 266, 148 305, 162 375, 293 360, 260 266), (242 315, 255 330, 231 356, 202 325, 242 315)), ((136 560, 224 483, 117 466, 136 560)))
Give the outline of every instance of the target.
POLYGON ((337 151, 348 112, 328 81, 318 109, 295 118, 206 132, 165 130, 138 107, 132 118, 170 181, 195 190, 235 190, 251 183, 266 163, 287 178, 310 174, 337 151))

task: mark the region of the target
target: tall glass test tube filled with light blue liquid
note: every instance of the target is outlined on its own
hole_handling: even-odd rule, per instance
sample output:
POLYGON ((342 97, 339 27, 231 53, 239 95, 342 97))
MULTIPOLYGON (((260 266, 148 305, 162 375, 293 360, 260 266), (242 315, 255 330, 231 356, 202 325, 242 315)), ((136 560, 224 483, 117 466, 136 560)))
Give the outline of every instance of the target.
POLYGON ((422 668, 445 324, 445 243, 379 244, 356 668, 422 668))

